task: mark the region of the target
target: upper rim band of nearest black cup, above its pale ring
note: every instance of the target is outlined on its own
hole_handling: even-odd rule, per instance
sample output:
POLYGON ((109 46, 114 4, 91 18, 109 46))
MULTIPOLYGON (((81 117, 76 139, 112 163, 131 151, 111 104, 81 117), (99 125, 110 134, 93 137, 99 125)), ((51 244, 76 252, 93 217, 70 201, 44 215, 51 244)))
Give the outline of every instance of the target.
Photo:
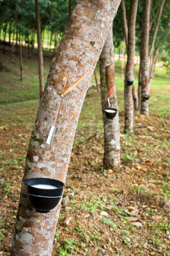
POLYGON ((31 195, 41 195, 41 196, 61 196, 63 189, 64 189, 64 183, 59 180, 53 180, 48 178, 32 178, 32 179, 24 179, 23 182, 27 185, 26 186, 26 192, 28 192, 31 195), (36 184, 45 184, 45 185, 52 185, 56 186, 56 189, 39 189, 35 188, 32 185, 36 184))

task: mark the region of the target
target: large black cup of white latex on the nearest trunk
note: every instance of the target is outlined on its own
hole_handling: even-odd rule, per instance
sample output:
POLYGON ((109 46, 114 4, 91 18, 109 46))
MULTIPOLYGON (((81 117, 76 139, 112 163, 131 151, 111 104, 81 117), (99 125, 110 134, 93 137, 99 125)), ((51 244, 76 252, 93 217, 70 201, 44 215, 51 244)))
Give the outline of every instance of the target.
POLYGON ((37 212, 47 213, 54 209, 62 198, 65 184, 59 180, 48 178, 31 178, 22 179, 26 184, 26 194, 29 204, 36 209, 37 212), (44 189, 36 188, 33 185, 43 184, 51 185, 56 188, 44 189))

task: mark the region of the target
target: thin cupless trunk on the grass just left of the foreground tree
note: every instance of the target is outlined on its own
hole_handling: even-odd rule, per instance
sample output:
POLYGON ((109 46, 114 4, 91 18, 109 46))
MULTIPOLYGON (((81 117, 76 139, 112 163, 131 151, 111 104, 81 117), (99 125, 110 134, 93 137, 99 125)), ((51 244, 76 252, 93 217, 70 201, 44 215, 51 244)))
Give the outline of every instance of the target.
POLYGON ((36 14, 36 28, 37 28, 37 41, 38 41, 38 65, 39 65, 39 84, 40 84, 40 100, 42 98, 44 90, 44 64, 43 64, 43 54, 41 45, 41 27, 40 27, 40 14, 38 0, 35 0, 35 14, 36 14))

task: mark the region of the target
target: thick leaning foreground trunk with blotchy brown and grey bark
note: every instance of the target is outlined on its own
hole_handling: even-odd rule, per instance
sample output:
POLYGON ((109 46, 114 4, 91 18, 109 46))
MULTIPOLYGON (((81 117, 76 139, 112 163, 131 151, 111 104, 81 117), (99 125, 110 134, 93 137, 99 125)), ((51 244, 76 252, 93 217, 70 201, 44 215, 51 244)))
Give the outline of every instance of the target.
MULTIPOLYGON (((93 4, 91 0, 77 0, 48 73, 28 147, 25 178, 48 177, 65 182, 77 122, 93 70, 63 97, 53 143, 48 145, 46 140, 54 125, 69 70, 67 87, 97 63, 119 4, 120 0, 93 4), (94 42, 93 46, 90 42, 94 42)), ((28 204, 25 189, 22 184, 11 256, 51 256, 61 201, 51 212, 38 213, 28 204)))

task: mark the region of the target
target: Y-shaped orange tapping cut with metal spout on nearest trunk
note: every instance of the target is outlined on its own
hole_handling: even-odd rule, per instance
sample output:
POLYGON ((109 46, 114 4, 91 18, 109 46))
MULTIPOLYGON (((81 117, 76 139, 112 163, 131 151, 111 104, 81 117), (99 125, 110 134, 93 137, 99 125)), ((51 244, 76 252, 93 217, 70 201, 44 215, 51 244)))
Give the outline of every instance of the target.
POLYGON ((65 96, 67 93, 69 93, 80 81, 82 81, 88 75, 88 73, 91 72, 91 70, 93 68, 94 68, 94 65, 82 77, 80 77, 74 84, 72 84, 70 87, 68 87, 68 89, 65 90, 65 86, 67 84, 68 76, 69 76, 69 73, 70 73, 70 70, 69 70, 68 75, 67 75, 66 80, 65 80, 63 90, 62 90, 62 94, 60 96, 60 101, 59 101, 59 105, 58 105, 58 108, 57 108, 57 113, 56 113, 54 125, 51 126, 50 132, 48 134, 48 138, 47 138, 47 141, 46 141, 47 144, 50 145, 53 142, 53 139, 54 139, 54 134, 55 134, 55 131, 56 131, 56 128, 57 128, 56 122, 57 122, 59 110, 60 110, 60 107, 61 107, 62 97, 65 96))

